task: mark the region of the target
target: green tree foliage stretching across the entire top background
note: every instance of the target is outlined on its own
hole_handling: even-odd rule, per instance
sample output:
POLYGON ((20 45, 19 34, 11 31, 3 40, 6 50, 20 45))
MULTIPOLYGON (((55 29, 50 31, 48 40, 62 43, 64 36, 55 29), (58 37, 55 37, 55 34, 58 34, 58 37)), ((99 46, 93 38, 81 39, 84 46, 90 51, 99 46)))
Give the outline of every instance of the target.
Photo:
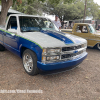
MULTIPOLYGON (((26 14, 45 12, 58 15, 60 20, 82 19, 84 16, 85 0, 0 0, 1 4, 5 3, 4 1, 13 1, 13 8, 26 14)), ((4 20, 3 16, 0 21, 4 20)), ((100 16, 100 6, 93 0, 87 0, 86 16, 93 16, 93 19, 100 16)))

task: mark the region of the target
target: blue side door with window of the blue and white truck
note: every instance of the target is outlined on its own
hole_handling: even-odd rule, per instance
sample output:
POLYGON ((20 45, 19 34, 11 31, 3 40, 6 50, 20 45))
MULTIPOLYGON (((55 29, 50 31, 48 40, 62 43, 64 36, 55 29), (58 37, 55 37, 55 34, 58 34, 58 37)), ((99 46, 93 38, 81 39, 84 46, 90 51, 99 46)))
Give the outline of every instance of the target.
POLYGON ((17 18, 15 16, 10 17, 6 31, 3 32, 5 47, 10 51, 15 52, 18 50, 18 37, 15 33, 9 32, 8 29, 17 30, 17 18))

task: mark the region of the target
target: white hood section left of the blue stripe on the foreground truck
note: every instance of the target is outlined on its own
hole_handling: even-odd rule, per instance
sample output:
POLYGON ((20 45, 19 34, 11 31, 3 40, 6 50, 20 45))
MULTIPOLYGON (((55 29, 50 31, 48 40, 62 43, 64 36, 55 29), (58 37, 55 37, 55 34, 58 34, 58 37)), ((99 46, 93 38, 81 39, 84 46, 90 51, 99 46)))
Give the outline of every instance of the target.
POLYGON ((41 47, 63 47, 66 44, 54 37, 43 34, 41 32, 25 32, 22 37, 38 43, 41 47))

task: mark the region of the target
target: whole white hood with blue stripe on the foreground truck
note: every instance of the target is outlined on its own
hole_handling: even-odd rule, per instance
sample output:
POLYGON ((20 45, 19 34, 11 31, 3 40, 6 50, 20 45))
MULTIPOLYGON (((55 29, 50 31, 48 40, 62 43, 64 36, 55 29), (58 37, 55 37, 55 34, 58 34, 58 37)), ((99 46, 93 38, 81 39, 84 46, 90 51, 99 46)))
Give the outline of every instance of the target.
POLYGON ((76 45, 86 42, 85 39, 71 34, 49 30, 42 30, 41 32, 25 32, 23 33, 23 37, 45 48, 64 47, 67 45, 76 45))

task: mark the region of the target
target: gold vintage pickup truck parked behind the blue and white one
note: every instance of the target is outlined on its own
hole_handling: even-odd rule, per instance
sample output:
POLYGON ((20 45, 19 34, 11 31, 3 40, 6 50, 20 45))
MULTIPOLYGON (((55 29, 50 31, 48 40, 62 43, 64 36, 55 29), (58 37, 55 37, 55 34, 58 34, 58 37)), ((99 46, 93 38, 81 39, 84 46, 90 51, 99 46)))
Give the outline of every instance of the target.
POLYGON ((72 31, 62 29, 62 32, 85 38, 89 47, 96 47, 100 50, 100 33, 97 33, 91 24, 75 23, 72 31))

